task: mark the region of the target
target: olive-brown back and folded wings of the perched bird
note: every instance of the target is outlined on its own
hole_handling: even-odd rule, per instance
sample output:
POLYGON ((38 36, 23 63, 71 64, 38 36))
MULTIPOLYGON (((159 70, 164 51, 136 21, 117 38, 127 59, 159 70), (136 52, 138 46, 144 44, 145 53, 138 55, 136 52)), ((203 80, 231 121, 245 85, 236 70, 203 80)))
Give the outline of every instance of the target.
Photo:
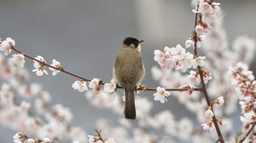
POLYGON ((131 48, 119 50, 115 61, 115 72, 119 82, 136 85, 143 72, 140 53, 131 48))

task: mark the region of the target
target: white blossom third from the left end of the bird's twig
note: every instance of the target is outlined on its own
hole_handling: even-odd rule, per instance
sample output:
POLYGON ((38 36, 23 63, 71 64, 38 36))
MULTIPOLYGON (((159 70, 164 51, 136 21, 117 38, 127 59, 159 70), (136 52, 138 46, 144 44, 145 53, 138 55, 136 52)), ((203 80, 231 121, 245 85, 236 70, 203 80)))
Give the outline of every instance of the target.
POLYGON ((32 71, 36 72, 37 76, 42 76, 44 73, 48 75, 48 71, 45 70, 44 68, 44 64, 46 61, 44 60, 44 58, 42 58, 42 56, 37 55, 37 57, 35 58, 38 61, 41 61, 42 63, 39 63, 38 61, 34 61, 34 68, 32 71))

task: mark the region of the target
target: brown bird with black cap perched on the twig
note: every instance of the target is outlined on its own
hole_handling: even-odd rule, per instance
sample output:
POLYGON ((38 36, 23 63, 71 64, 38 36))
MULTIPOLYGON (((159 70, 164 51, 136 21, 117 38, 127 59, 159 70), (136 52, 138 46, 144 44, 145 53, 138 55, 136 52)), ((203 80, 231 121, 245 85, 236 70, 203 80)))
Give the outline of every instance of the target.
POLYGON ((113 67, 113 79, 124 88, 124 115, 130 120, 136 118, 135 89, 145 76, 145 68, 140 53, 141 42, 143 40, 139 41, 133 37, 125 38, 118 50, 113 67))

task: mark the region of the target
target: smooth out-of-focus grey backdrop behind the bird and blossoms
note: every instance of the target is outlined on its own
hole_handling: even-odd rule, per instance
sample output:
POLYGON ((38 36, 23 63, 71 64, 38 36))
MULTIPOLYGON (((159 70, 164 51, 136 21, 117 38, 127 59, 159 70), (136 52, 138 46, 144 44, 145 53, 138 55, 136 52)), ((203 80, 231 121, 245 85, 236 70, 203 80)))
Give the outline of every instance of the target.
MULTIPOLYGON (((143 39, 142 54, 146 67, 144 84, 156 87, 151 67, 154 50, 165 46, 184 46, 194 25, 195 15, 188 0, 1 0, 0 37, 15 39, 16 47, 32 56, 42 55, 47 62, 53 58, 64 69, 90 79, 112 78, 113 61, 119 45, 127 36, 143 39)), ((221 7, 225 13, 224 26, 230 45, 237 36, 248 35, 256 39, 256 1, 225 0, 221 7)), ((26 68, 33 69, 26 60, 26 68)), ((255 62, 252 63, 252 70, 255 62)), ((37 77, 31 82, 41 83, 52 95, 52 104, 69 107, 74 115, 73 125, 80 125, 88 134, 94 134, 94 121, 99 117, 115 120, 108 109, 89 105, 83 93, 72 90, 76 79, 67 74, 56 77, 37 77)), ((153 93, 142 93, 153 101, 153 93)), ((180 119, 187 112, 176 98, 167 104, 154 102, 151 113, 170 109, 180 119), (178 109, 178 111, 176 110, 178 109)), ((239 111, 240 112, 240 111, 239 111)), ((239 114, 238 112, 238 114, 239 114)), ((238 118, 239 119, 239 118, 238 118)), ((237 121, 240 123, 240 121, 237 121)), ((240 126, 240 125, 239 125, 240 126)), ((0 126, 0 142, 11 142, 15 131, 0 126)))

